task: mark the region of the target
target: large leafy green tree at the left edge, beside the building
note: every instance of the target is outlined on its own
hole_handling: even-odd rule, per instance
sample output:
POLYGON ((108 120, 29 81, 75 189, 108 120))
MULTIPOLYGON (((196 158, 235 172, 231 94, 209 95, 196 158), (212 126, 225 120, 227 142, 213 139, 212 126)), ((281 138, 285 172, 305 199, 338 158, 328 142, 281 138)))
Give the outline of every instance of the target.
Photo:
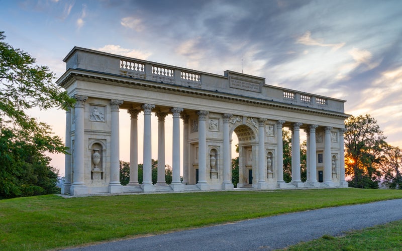
POLYGON ((48 67, 34 65, 35 58, 5 39, 0 32, 0 198, 51 193, 57 173, 45 153, 66 153, 66 147, 26 111, 68 109, 74 100, 53 83, 48 67))

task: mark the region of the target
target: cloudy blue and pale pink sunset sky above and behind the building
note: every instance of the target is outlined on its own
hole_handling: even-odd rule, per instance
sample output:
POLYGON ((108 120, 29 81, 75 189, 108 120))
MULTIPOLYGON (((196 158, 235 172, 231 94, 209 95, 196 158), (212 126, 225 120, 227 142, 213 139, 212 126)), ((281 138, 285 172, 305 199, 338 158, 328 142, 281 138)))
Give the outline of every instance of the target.
MULTIPOLYGON (((346 113, 371 114, 387 142, 402 147, 400 0, 0 0, 0 31, 57 77, 79 46, 220 75, 243 71, 269 85, 347 100, 346 113)), ((64 111, 31 112, 65 138, 64 111)), ((129 124, 121 111, 124 161, 129 124)), ((64 156, 51 157, 63 174, 64 156)))

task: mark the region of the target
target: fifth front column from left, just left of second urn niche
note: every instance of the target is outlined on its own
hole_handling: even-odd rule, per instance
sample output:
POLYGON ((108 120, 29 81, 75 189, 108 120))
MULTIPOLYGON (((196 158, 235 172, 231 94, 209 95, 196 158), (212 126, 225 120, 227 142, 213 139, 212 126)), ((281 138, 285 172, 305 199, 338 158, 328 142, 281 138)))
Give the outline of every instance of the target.
POLYGON ((198 114, 198 183, 201 190, 208 190, 207 183, 207 126, 209 111, 200 110, 198 114))

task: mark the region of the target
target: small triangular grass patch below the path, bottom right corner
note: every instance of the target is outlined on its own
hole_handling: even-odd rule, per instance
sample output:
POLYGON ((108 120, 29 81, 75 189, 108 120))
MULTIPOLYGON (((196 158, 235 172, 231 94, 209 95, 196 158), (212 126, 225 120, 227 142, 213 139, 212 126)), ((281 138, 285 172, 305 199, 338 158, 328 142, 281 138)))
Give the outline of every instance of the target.
POLYGON ((402 250, 402 220, 349 231, 342 236, 324 235, 285 250, 402 250))

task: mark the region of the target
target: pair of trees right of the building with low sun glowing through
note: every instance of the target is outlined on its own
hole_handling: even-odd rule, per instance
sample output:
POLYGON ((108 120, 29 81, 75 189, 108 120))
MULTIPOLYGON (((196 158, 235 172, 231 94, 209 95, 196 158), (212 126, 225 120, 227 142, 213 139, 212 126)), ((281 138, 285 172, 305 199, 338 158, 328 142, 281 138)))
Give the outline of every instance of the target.
POLYGON ((385 142, 377 120, 370 114, 351 116, 345 129, 345 174, 351 177, 349 186, 378 188, 382 180, 389 188, 402 189, 402 152, 385 142))

